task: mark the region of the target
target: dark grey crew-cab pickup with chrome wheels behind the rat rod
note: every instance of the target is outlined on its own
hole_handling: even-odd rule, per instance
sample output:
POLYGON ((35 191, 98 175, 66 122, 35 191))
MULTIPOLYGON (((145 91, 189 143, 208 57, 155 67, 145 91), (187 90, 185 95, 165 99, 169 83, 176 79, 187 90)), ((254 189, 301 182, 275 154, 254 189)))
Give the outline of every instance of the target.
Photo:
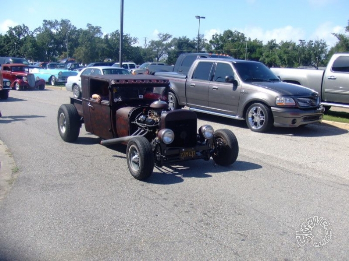
POLYGON ((316 91, 281 81, 259 62, 205 58, 194 61, 187 75, 155 75, 170 79, 172 109, 188 106, 196 112, 246 120, 252 131, 319 123, 325 111, 316 91))

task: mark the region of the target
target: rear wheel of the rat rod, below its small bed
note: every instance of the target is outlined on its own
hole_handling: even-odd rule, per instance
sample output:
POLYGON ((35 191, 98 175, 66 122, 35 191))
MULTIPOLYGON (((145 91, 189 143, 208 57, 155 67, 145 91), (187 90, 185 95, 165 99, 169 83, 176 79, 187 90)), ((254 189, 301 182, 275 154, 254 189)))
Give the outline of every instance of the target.
POLYGON ((74 142, 79 137, 80 123, 77 108, 73 104, 62 104, 57 115, 58 131, 66 142, 74 142))

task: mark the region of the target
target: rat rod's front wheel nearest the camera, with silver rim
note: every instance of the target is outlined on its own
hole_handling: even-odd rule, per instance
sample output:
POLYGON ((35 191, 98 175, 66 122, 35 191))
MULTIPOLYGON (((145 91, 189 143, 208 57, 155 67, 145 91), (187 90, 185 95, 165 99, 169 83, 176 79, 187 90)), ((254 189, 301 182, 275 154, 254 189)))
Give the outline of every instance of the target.
POLYGON ((154 155, 147 138, 139 136, 130 139, 126 148, 127 166, 137 180, 149 178, 154 170, 154 155))

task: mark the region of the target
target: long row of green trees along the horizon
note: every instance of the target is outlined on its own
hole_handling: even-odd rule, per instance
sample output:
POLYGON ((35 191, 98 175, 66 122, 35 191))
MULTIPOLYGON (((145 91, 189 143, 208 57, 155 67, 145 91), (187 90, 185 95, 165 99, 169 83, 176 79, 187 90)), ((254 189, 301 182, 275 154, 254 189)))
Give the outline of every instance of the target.
MULTIPOLYGON (((333 53, 349 52, 349 21, 345 28, 346 34, 333 33, 338 42, 330 50, 323 39, 280 43, 270 39, 263 44, 258 39, 247 39, 244 33, 232 30, 215 33, 210 40, 204 39, 204 35, 199 35, 199 39, 189 39, 159 33, 157 40, 151 40, 144 47, 135 46, 139 43, 138 38, 124 34, 122 59, 137 64, 161 61, 173 65, 181 53, 199 50, 261 61, 267 66, 318 67, 325 66, 333 53)), ((83 64, 104 60, 118 62, 119 49, 119 30, 103 35, 100 26, 87 24, 85 29, 77 29, 68 19, 43 20, 42 26, 33 32, 22 24, 9 27, 6 34, 0 34, 0 56, 24 57, 31 61, 59 61, 74 57, 83 64)))

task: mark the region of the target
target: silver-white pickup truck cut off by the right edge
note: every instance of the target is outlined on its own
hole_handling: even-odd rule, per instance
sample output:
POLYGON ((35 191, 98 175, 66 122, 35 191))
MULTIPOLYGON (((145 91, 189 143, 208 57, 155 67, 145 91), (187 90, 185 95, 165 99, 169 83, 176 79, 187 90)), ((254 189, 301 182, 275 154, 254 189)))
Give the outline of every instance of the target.
POLYGON ((326 110, 349 108, 349 53, 334 54, 325 70, 270 68, 281 80, 314 89, 326 110))

